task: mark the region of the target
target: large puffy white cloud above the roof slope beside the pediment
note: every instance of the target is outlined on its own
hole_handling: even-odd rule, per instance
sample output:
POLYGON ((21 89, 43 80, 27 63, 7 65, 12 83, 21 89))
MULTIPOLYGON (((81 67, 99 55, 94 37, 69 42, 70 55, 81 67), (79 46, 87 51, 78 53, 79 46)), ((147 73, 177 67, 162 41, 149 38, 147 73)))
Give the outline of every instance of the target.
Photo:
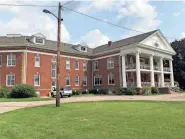
MULTIPOLYGON (((133 25, 132 29, 147 32, 156 29, 160 25, 161 21, 157 20, 157 15, 155 6, 149 4, 147 0, 137 0, 127 1, 125 6, 119 9, 117 18, 119 20, 125 17, 137 18, 138 22, 133 25)), ((136 34, 138 33, 129 31, 122 37, 130 37, 136 34)))

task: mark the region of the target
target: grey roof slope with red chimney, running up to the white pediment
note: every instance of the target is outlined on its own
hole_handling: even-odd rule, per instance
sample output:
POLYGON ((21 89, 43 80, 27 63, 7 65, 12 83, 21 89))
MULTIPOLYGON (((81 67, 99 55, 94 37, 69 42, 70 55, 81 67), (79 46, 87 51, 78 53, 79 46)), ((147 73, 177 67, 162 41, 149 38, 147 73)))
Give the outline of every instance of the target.
POLYGON ((129 38, 125 38, 116 42, 112 42, 111 46, 108 46, 108 44, 96 47, 93 49, 93 53, 100 53, 100 52, 104 52, 104 51, 109 51, 109 50, 113 50, 115 48, 120 48, 122 46, 126 46, 126 45, 130 45, 130 44, 135 44, 135 43, 139 43, 142 40, 146 39, 147 37, 149 37, 150 35, 152 35, 153 33, 157 32, 158 30, 154 30, 151 32, 147 32, 144 34, 140 34, 140 35, 136 35, 133 37, 129 37, 129 38))

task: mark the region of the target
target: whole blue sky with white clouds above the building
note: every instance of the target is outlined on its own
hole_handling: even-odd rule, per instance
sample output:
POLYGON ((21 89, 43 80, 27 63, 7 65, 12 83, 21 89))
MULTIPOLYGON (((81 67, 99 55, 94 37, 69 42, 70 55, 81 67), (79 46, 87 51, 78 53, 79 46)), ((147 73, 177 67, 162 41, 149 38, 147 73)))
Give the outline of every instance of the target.
MULTIPOLYGON (((62 4, 70 0, 60 1, 62 4)), ((0 4, 43 5, 47 7, 24 7, 0 5, 0 35, 33 35, 42 33, 47 39, 57 39, 57 20, 43 9, 57 15, 59 1, 49 0, 0 0, 0 4)), ((185 1, 125 1, 125 0, 74 0, 65 5, 75 11, 140 32, 160 29, 169 42, 185 37, 185 1)), ((108 41, 117 41, 139 32, 112 26, 86 16, 62 10, 62 41, 86 43, 95 48, 108 41)))

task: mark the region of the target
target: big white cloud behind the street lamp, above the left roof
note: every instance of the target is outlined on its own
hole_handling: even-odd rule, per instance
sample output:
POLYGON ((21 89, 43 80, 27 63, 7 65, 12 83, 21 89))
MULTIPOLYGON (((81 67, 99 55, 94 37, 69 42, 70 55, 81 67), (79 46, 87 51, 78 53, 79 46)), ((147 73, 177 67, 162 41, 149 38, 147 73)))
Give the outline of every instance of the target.
MULTIPOLYGON (((16 9, 12 9, 12 7, 5 6, 3 8, 0 7, 0 11, 2 10, 7 12, 7 14, 13 12, 14 16, 8 21, 0 20, 0 35, 12 33, 32 35, 40 32, 47 39, 57 40, 57 21, 51 15, 43 13, 42 8, 16 7, 16 9)), ((62 41, 69 42, 70 34, 63 24, 61 34, 62 41)))

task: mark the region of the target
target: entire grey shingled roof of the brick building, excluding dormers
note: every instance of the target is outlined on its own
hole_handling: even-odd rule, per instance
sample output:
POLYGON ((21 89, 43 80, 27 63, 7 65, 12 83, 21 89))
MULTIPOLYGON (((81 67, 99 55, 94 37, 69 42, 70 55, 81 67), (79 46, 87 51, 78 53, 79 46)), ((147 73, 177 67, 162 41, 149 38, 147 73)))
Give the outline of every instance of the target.
MULTIPOLYGON (((96 47, 94 49, 91 49, 87 47, 87 52, 81 52, 76 49, 78 45, 73 45, 73 44, 68 44, 68 43, 61 43, 61 51, 62 52, 67 52, 67 53, 72 53, 72 54, 79 54, 83 56, 90 56, 94 53, 101 53, 109 50, 114 50, 116 48, 120 48, 122 46, 130 45, 130 44, 135 44, 139 43, 142 40, 146 39, 153 33, 157 32, 158 30, 154 30, 151 32, 147 32, 144 34, 136 35, 130 38, 122 39, 116 42, 112 42, 112 46, 108 46, 108 44, 96 47)), ((39 34, 40 35, 40 34, 39 34)), ((38 45, 34 44, 30 40, 31 36, 19 36, 19 37, 7 37, 7 36, 2 36, 0 37, 0 47, 16 47, 16 46, 28 46, 32 48, 39 48, 39 49, 46 49, 46 50, 57 50, 57 42, 56 41, 51 41, 51 40, 45 40, 44 45, 38 45)))

